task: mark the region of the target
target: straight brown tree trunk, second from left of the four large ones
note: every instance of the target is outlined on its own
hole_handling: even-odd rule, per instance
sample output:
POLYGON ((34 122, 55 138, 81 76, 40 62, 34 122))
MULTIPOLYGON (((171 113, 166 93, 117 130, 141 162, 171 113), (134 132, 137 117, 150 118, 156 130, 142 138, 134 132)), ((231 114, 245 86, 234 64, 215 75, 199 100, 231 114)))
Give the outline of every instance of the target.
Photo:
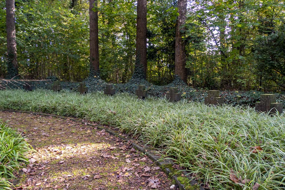
POLYGON ((99 76, 99 39, 97 0, 89 1, 90 76, 99 76), (95 11, 92 9, 95 6, 95 11))

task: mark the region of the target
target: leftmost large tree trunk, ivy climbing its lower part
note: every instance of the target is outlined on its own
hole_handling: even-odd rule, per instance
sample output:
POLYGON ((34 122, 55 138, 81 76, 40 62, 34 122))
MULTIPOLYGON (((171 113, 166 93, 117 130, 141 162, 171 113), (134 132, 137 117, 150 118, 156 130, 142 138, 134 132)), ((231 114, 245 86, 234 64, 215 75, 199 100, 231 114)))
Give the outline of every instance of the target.
POLYGON ((7 78, 19 75, 15 30, 15 0, 6 0, 7 78))

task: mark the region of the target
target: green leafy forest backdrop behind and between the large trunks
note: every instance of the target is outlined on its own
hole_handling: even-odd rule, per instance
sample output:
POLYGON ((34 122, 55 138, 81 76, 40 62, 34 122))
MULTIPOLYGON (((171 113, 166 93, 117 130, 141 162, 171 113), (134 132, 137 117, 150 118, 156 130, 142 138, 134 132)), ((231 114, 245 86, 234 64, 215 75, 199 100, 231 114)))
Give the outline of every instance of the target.
MULTIPOLYGON (((100 77, 126 83, 135 71, 139 5, 135 0, 96 3, 100 77)), ((11 79, 5 1, 0 7, 0 78, 11 79)), ((184 81, 196 89, 284 91, 284 8, 282 0, 187 1, 179 28, 186 55, 184 81)), ((145 78, 155 85, 172 82, 176 74, 178 12, 176 0, 147 1, 145 78)), ((19 76, 86 79, 89 25, 89 1, 16 0, 19 76)))

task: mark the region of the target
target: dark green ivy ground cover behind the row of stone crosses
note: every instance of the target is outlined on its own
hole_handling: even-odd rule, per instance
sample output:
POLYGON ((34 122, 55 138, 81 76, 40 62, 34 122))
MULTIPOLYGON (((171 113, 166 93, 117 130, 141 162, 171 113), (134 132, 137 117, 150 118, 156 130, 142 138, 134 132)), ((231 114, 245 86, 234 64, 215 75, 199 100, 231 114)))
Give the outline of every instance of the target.
MULTIPOLYGON (((50 77, 48 81, 33 81, 36 89, 51 89, 53 81, 57 81, 56 77, 50 77)), ((103 91, 105 88, 105 81, 96 77, 88 77, 84 80, 86 86, 89 88, 89 92, 103 91)), ((22 89, 23 81, 17 82, 5 82, 7 89, 22 89)), ((131 79, 128 83, 124 84, 114 84, 116 93, 129 93, 135 94, 135 90, 138 88, 138 85, 146 85, 148 94, 153 97, 163 98, 166 95, 166 92, 169 91, 169 87, 177 87, 178 92, 182 93, 182 98, 195 102, 203 102, 204 98, 208 95, 207 90, 197 90, 192 87, 187 86, 181 79, 176 77, 172 83, 164 86, 153 85, 146 80, 142 79, 131 79)), ((4 84, 3 84, 4 85, 4 84)), ((77 91, 79 83, 72 82, 61 82, 63 89, 67 91, 77 91)), ((260 94, 264 92, 260 91, 221 91, 220 96, 224 97, 224 103, 229 105, 249 105, 251 107, 255 106, 255 103, 260 101, 260 94)), ((270 93, 270 92, 266 92, 270 93)), ((281 93, 276 93, 277 102, 283 103, 285 109, 285 95, 281 93)))

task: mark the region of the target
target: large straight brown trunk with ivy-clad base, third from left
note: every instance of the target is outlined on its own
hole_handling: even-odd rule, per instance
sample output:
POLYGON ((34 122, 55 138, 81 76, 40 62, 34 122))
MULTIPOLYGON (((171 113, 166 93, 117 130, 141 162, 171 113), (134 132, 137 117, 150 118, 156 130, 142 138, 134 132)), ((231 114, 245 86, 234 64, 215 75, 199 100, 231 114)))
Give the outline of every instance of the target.
POLYGON ((133 78, 146 79, 146 0, 137 2, 136 63, 133 78))

